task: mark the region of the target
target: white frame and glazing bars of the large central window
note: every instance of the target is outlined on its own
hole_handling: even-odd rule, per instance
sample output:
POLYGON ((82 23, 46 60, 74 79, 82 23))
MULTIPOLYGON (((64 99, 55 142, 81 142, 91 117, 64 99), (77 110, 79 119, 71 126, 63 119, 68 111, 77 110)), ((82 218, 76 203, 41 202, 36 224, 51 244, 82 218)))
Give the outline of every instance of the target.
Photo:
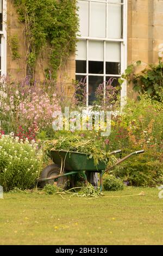
MULTIPOLYGON (((85 0, 80 0, 85 1, 85 0)), ((78 40, 86 40, 86 73, 76 73, 77 75, 85 75, 86 76, 86 106, 89 106, 89 76, 114 76, 120 78, 124 70, 127 68, 127 0, 123 0, 123 3, 116 3, 111 2, 111 0, 100 1, 100 0, 86 0, 89 2, 89 17, 91 15, 91 2, 95 3, 105 3, 106 4, 106 17, 108 13, 108 4, 118 4, 123 6, 123 34, 121 39, 113 39, 108 38, 108 19, 106 18, 106 37, 105 38, 94 38, 90 36, 90 19, 89 19, 89 36, 77 36, 78 40), (95 41, 103 41, 104 42, 104 72, 105 71, 105 49, 106 49, 106 42, 120 42, 121 43, 121 75, 109 75, 109 74, 90 74, 89 73, 89 59, 88 59, 88 49, 89 49, 89 40, 95 40, 95 41)), ((104 91, 105 91, 105 84, 104 84, 104 91)), ((122 89, 121 89, 121 107, 123 107, 126 103, 126 96, 127 96, 127 83, 123 82, 122 89)))

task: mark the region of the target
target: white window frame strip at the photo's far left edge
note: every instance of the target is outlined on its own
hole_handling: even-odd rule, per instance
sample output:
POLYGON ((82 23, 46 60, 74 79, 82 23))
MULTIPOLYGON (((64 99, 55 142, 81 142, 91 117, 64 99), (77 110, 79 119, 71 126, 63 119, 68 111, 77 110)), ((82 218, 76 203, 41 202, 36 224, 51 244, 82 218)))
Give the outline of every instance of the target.
POLYGON ((7 0, 3 0, 3 28, 1 36, 1 76, 7 75, 7 0))

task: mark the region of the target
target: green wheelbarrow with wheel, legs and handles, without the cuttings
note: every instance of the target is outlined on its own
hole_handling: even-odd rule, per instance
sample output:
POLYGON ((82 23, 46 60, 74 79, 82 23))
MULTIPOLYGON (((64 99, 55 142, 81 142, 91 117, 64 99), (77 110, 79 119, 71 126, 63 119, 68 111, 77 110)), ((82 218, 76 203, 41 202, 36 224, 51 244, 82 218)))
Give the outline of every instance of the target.
MULTIPOLYGON (((65 188, 68 176, 74 177, 75 174, 81 174, 85 180, 85 184, 87 184, 88 181, 85 172, 93 172, 100 174, 100 191, 102 191, 103 175, 105 172, 114 169, 118 164, 127 160, 129 157, 144 152, 144 150, 139 150, 130 153, 107 168, 107 164, 104 162, 99 162, 98 165, 95 166, 93 159, 89 159, 89 155, 87 154, 66 150, 52 150, 50 156, 55 164, 51 164, 44 168, 37 181, 41 187, 46 184, 54 184, 55 182, 57 186, 65 188)), ((110 155, 117 153, 121 153, 121 149, 112 151, 110 155)), ((73 178, 71 178, 71 180, 72 184, 74 184, 73 178)))

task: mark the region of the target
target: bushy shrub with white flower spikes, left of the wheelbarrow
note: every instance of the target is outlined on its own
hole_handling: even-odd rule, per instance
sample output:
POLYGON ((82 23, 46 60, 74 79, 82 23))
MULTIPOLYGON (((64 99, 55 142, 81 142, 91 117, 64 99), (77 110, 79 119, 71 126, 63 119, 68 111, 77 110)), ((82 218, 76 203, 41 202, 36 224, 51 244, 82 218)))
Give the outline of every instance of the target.
POLYGON ((14 187, 32 188, 42 168, 42 152, 30 144, 9 135, 0 137, 0 184, 4 191, 14 187))

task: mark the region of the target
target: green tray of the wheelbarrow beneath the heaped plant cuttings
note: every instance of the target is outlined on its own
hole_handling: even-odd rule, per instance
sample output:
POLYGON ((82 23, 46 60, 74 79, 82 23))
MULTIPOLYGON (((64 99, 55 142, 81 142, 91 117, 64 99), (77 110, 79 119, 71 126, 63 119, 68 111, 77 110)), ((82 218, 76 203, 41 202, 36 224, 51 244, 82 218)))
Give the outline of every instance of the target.
POLYGON ((93 158, 89 159, 89 155, 84 153, 78 153, 74 151, 66 150, 51 150, 51 159, 58 166, 62 166, 65 170, 81 171, 87 170, 92 172, 98 172, 105 170, 106 164, 102 161, 95 166, 93 158))

